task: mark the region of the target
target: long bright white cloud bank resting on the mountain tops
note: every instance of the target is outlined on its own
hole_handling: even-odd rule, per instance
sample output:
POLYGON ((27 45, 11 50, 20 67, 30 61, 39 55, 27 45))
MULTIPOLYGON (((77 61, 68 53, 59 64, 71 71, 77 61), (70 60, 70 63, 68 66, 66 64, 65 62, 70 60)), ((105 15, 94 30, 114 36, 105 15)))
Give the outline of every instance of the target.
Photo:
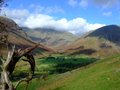
POLYGON ((79 17, 72 20, 67 20, 66 18, 56 20, 54 17, 44 14, 30 15, 25 21, 25 25, 30 28, 52 27, 57 30, 66 30, 74 34, 85 33, 104 26, 104 24, 88 23, 85 19, 79 17))

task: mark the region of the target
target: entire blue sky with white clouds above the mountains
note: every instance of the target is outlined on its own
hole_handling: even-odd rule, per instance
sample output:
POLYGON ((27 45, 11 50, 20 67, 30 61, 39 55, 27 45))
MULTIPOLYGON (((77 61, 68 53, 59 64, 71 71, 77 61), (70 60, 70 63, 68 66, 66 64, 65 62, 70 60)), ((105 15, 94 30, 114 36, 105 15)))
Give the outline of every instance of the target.
POLYGON ((83 34, 120 24, 120 0, 9 0, 1 15, 19 26, 83 34))

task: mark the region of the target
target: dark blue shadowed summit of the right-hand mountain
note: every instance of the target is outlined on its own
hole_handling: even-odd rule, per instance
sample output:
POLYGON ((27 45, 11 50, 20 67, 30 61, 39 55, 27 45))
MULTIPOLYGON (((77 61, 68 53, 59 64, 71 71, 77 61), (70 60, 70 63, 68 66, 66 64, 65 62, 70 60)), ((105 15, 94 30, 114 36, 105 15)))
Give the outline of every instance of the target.
POLYGON ((101 27, 85 37, 99 37, 120 45, 120 27, 117 25, 108 25, 101 27))

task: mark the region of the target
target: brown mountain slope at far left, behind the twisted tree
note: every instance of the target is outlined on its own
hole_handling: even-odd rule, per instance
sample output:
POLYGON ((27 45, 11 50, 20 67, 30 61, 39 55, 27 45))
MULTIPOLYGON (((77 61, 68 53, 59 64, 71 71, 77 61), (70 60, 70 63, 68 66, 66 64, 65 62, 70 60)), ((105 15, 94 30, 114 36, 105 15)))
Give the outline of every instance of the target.
MULTIPOLYGON (((0 38, 2 38, 3 34, 8 36, 7 41, 11 44, 15 44, 16 48, 25 48, 37 44, 32 41, 22 28, 20 28, 13 20, 0 16, 0 38)), ((2 40, 0 42, 0 49, 1 51, 4 51, 5 45, 2 44, 2 40)), ((42 44, 40 44, 38 48, 45 51, 51 50, 42 44)))

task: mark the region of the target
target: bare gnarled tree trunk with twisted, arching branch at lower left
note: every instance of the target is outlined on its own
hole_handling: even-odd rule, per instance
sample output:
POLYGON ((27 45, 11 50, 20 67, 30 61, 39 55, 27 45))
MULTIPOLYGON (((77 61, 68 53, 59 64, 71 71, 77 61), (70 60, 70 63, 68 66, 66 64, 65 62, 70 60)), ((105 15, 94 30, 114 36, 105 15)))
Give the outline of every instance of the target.
POLYGON ((33 78, 34 70, 35 70, 34 57, 33 55, 30 55, 29 53, 32 50, 34 50, 37 46, 38 45, 35 45, 33 47, 26 48, 24 50, 18 50, 18 51, 15 51, 15 46, 12 46, 12 48, 8 52, 7 60, 6 61, 2 60, 3 61, 3 67, 2 67, 2 72, 1 72, 2 90, 16 90, 18 85, 23 81, 27 82, 27 86, 28 86, 29 81, 32 80, 33 78), (18 81, 18 83, 14 87, 9 77, 14 71, 16 63, 19 61, 19 59, 22 56, 25 56, 27 59, 24 59, 24 61, 29 62, 30 64, 30 73, 28 77, 23 78, 20 81, 18 81))

